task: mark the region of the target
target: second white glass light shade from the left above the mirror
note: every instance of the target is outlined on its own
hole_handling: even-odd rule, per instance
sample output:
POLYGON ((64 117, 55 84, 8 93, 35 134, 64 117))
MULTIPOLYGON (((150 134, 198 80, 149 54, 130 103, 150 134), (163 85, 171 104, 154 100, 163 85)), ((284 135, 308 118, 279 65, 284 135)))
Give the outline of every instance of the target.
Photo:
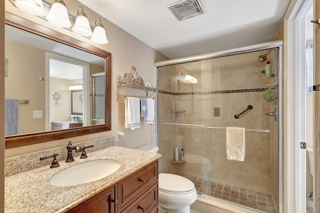
POLYGON ((59 2, 54 2, 51 5, 50 11, 45 15, 45 18, 60 27, 70 27, 71 22, 69 20, 68 11, 66 7, 59 2))

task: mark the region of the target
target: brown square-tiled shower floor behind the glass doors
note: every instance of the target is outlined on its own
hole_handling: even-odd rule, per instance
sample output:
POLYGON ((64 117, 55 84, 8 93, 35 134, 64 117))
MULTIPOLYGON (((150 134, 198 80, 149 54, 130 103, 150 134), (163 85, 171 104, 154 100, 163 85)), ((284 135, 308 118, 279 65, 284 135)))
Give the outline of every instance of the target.
POLYGON ((267 213, 276 212, 271 194, 265 194, 214 181, 210 183, 207 180, 181 173, 178 175, 191 180, 194 183, 197 193, 210 195, 267 213))

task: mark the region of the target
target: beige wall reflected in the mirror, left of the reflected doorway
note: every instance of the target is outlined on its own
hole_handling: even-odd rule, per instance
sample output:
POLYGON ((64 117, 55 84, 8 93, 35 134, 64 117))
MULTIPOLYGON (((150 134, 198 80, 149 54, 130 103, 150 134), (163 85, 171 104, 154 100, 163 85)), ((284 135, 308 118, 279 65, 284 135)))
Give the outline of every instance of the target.
POLYGON ((39 77, 45 77, 45 52, 6 40, 5 58, 8 59, 5 98, 30 100, 27 104, 19 104, 18 133, 45 131, 45 116, 32 118, 32 110, 42 110, 45 115, 45 81, 39 80, 39 77), (17 86, 23 89, 17 90, 17 86))

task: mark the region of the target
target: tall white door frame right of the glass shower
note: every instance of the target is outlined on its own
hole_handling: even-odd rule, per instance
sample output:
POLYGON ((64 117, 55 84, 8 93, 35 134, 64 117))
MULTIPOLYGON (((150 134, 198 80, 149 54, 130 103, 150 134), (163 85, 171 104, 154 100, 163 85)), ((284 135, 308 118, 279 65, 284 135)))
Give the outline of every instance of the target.
POLYGON ((284 15, 283 210, 305 212, 305 15, 312 0, 291 0, 284 15), (292 187, 293 186, 293 187, 292 187))

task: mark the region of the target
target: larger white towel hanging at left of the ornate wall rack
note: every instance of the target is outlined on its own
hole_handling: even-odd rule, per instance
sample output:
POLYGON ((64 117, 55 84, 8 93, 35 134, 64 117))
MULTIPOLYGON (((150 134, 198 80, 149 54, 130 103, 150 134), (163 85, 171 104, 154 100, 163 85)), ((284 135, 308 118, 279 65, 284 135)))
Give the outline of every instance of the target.
POLYGON ((124 127, 137 129, 140 127, 140 98, 126 97, 125 98, 125 121, 124 127))

